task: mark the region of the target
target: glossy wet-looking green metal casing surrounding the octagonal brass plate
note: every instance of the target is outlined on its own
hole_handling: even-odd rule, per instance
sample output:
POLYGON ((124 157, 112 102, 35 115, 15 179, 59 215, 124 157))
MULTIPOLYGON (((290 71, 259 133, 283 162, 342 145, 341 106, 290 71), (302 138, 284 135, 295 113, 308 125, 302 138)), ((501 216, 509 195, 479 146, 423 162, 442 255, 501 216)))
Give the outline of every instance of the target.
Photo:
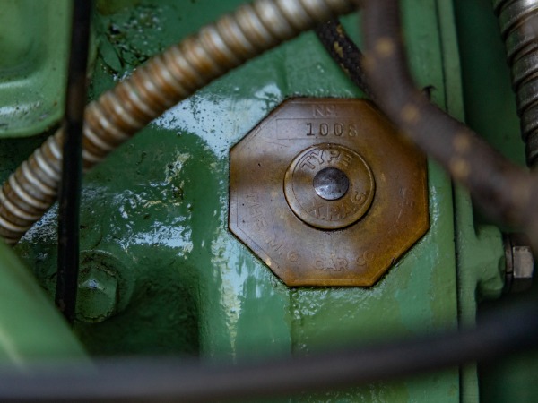
MULTIPOLYGON (((91 98, 242 3, 98 2, 91 98)), ((356 21, 351 15, 343 24, 360 42, 356 21)), ((404 28, 416 81, 434 87, 438 106, 463 117, 451 4, 404 1, 404 28)), ((475 232, 468 197, 453 194, 450 179, 431 161, 430 231, 374 287, 288 288, 228 231, 230 147, 283 99, 360 95, 315 35, 305 33, 171 108, 87 174, 75 332, 88 351, 239 362, 473 322, 477 285, 484 296, 497 296, 501 287, 499 231, 475 232)), ((0 176, 41 140, 0 141, 0 176)), ((15 248, 50 295, 56 212, 50 210, 15 248)), ((473 402, 476 371, 453 368, 299 400, 473 402)))

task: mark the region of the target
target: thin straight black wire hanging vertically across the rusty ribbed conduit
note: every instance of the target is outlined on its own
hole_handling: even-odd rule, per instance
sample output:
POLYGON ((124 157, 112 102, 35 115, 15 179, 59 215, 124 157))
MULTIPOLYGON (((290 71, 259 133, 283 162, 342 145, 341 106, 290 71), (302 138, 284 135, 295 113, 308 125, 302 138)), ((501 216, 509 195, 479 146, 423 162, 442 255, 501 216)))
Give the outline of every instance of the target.
POLYGON ((82 181, 82 124, 86 107, 86 68, 91 1, 74 0, 67 92, 65 96, 62 181, 58 197, 56 305, 73 323, 79 271, 79 208, 82 181))

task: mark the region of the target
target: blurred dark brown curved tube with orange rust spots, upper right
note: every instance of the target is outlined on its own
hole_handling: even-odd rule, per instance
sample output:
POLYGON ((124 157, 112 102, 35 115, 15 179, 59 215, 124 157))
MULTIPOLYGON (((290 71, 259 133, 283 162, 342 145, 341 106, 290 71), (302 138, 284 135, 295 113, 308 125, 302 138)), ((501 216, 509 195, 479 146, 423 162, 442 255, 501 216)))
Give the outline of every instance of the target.
POLYGON ((363 64, 387 116, 471 192, 490 219, 521 228, 538 253, 538 176, 516 167, 416 89, 407 67, 397 0, 364 4, 363 64))

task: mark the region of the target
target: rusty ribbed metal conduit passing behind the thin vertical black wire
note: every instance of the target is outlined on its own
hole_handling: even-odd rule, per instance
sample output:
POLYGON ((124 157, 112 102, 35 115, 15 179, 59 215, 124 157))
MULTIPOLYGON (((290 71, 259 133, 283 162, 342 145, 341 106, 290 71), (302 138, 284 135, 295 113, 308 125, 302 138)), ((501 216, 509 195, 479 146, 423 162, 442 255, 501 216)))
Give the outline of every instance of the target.
MULTIPOLYGON (((351 0, 258 0, 169 47, 86 107, 84 169, 208 82, 303 30, 351 12, 353 5, 351 0)), ((63 138, 60 129, 4 183, 0 236, 8 244, 16 244, 56 200, 63 138)))

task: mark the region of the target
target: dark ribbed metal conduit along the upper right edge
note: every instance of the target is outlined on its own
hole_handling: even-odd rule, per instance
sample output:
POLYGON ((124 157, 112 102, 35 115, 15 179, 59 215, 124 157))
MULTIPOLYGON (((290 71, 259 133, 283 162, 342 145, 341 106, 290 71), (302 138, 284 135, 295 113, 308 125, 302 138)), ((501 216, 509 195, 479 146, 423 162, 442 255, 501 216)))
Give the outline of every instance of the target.
POLYGON ((538 161, 538 0, 493 0, 507 48, 529 167, 538 161))

